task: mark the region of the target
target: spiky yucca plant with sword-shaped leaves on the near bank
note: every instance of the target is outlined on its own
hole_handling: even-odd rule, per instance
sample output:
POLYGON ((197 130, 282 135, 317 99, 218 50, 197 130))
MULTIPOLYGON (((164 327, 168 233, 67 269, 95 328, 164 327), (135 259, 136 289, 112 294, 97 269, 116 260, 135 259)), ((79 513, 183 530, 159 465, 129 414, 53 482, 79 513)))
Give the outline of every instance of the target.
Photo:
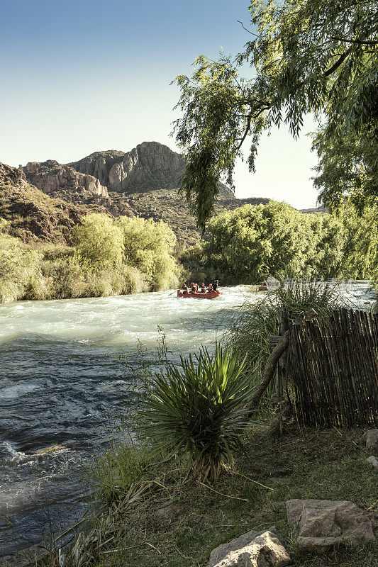
POLYGON ((140 432, 158 450, 189 460, 196 478, 214 481, 242 447, 250 382, 245 361, 218 345, 214 354, 181 357, 157 376, 140 412, 140 432))

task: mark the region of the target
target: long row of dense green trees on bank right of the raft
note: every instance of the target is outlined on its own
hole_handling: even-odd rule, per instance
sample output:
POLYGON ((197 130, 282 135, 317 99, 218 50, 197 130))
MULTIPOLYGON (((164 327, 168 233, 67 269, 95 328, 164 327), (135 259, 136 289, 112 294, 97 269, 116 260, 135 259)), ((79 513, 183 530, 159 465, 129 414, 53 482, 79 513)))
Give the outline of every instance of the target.
POLYGON ((319 278, 378 279, 378 206, 344 203, 332 214, 299 213, 285 203, 245 205, 207 225, 204 243, 180 260, 198 280, 258 283, 290 266, 319 278))

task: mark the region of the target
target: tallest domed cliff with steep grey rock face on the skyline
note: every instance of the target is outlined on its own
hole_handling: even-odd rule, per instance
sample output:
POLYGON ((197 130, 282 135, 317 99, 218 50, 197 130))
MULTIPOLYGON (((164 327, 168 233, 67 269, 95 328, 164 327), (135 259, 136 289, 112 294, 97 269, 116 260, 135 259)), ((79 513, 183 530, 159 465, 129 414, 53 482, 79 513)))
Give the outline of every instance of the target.
MULTIPOLYGON (((78 172, 99 179, 109 191, 135 193, 156 189, 177 189, 185 170, 185 158, 158 142, 143 142, 127 153, 109 150, 72 162, 78 172)), ((220 184, 220 198, 235 198, 220 184)))

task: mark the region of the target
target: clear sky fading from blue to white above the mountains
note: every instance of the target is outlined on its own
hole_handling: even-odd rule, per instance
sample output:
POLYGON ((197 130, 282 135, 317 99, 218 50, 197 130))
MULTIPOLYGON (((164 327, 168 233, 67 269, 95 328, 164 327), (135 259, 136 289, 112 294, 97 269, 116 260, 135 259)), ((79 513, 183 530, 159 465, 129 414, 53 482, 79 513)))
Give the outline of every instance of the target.
MULTIPOLYGON (((243 50, 248 0, 0 0, 0 162, 67 163, 144 141, 178 150, 179 89, 200 54, 243 50)), ((235 168, 235 195, 316 205, 306 135, 263 137, 256 174, 235 168)))

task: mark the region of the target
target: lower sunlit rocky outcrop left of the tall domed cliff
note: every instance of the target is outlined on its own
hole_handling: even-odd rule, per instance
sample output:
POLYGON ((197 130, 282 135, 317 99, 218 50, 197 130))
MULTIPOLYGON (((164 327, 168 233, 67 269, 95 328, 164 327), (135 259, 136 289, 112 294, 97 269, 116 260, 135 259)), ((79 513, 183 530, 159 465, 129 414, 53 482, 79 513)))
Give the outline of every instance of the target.
POLYGON ((108 190, 96 177, 77 172, 73 167, 58 164, 48 159, 47 162, 29 162, 23 172, 28 181, 40 191, 51 196, 65 196, 79 193, 81 198, 109 198, 108 190))

